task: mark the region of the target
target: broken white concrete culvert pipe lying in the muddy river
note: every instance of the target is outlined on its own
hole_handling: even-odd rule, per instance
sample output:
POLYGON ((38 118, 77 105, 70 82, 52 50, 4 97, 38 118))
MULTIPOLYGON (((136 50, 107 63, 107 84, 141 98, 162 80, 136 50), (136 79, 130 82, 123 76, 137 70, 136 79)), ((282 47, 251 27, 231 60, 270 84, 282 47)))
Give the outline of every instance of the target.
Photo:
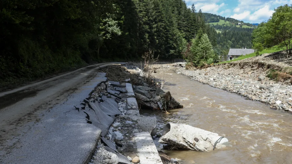
POLYGON ((211 151, 216 141, 216 149, 228 145, 228 139, 217 133, 195 128, 186 124, 167 123, 163 128, 163 136, 159 142, 168 149, 190 149, 195 151, 211 151))

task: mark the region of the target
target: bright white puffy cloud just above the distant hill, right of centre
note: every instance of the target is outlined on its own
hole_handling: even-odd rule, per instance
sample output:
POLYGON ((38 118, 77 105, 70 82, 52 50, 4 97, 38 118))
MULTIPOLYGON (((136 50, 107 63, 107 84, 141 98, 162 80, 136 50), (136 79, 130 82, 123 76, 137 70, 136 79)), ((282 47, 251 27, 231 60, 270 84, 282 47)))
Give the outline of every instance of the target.
POLYGON ((244 20, 245 22, 262 22, 270 18, 270 16, 274 13, 273 10, 270 10, 270 6, 266 5, 263 8, 258 9, 254 13, 251 13, 251 11, 244 11, 240 14, 234 14, 231 15, 230 18, 234 18, 237 20, 244 20))

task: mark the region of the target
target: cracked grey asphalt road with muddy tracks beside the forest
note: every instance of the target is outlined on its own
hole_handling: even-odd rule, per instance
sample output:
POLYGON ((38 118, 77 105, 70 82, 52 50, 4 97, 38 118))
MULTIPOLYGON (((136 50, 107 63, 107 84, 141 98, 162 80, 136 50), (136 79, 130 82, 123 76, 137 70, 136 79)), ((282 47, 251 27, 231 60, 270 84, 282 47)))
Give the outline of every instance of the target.
POLYGON ((86 151, 96 142, 97 130, 95 126, 84 123, 85 113, 74 121, 72 116, 78 112, 80 101, 104 80, 98 74, 98 68, 109 64, 119 63, 84 67, 0 93, 0 163, 84 163, 79 160, 90 154, 86 151), (60 136, 64 134, 67 134, 67 139, 76 138, 75 141, 63 142, 64 138, 60 136), (51 143, 58 143, 62 150, 48 149, 51 143), (76 147, 79 152, 72 150, 80 143, 82 146, 76 147), (75 153, 68 156, 71 152, 75 153), (52 159, 56 155, 60 158, 52 159))

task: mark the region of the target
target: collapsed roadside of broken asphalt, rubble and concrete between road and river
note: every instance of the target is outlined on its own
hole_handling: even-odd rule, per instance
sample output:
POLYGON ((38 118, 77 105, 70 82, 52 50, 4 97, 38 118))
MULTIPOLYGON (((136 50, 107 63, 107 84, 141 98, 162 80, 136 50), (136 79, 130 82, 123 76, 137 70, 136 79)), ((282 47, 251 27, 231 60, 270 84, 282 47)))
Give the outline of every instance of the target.
MULTIPOLYGON (((88 164, 178 163, 177 160, 158 153, 152 140, 152 137, 157 136, 156 118, 140 116, 139 109, 166 111, 183 106, 171 97, 170 92, 166 93, 158 88, 154 81, 145 81, 140 77, 141 70, 132 64, 105 67, 100 71, 106 73, 108 82, 95 88, 88 105, 95 109, 95 113, 99 107, 102 111, 114 111, 107 114, 111 115, 114 121, 111 121, 109 128, 102 131, 88 164), (114 98, 116 103, 109 98, 114 98), (109 105, 106 105, 107 103, 109 105)), ((93 120, 88 121, 98 125, 94 120, 95 114, 91 115, 94 116, 93 120)), ((91 118, 91 115, 88 118, 91 118)))

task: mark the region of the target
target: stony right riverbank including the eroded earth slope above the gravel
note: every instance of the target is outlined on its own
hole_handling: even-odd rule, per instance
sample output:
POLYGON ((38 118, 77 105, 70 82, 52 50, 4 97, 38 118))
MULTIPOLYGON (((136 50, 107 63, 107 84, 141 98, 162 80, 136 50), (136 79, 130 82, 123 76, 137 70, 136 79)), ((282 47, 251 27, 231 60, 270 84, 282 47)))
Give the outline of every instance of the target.
POLYGON ((189 76, 191 80, 266 103, 272 109, 292 113, 290 80, 280 82, 267 77, 269 69, 281 71, 290 68, 290 61, 282 60, 279 56, 279 53, 263 54, 206 69, 187 70, 178 67, 178 64, 157 65, 155 68, 173 67, 178 74, 189 76))

